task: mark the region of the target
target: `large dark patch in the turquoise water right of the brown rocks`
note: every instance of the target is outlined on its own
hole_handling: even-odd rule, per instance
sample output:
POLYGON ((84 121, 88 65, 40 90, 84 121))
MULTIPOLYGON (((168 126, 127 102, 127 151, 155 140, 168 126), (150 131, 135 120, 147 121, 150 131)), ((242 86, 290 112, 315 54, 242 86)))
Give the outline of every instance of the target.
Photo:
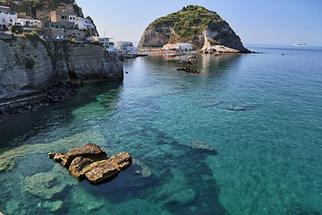
MULTIPOLYGON (((84 182, 89 193, 104 196, 110 202, 125 202, 131 198, 157 202, 174 214, 226 214, 218 201, 218 187, 206 161, 216 156, 213 149, 194 147, 177 142, 162 131, 144 126, 127 135, 141 136, 145 150, 138 150, 134 158, 144 158, 152 175, 138 177, 138 166, 131 166, 112 181, 92 186, 84 182), (147 152, 149 151, 149 152, 147 152)), ((139 146, 138 146, 139 147, 139 146)))

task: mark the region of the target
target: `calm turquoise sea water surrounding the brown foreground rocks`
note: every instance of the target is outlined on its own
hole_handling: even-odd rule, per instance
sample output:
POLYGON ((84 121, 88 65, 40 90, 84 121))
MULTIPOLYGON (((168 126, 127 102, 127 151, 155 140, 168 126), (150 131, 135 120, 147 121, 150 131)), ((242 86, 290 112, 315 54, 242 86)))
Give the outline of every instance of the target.
POLYGON ((123 82, 4 118, 0 211, 322 214, 322 47, 249 48, 262 54, 199 55, 199 74, 130 59, 123 82), (90 185, 47 159, 86 142, 134 164, 90 185))

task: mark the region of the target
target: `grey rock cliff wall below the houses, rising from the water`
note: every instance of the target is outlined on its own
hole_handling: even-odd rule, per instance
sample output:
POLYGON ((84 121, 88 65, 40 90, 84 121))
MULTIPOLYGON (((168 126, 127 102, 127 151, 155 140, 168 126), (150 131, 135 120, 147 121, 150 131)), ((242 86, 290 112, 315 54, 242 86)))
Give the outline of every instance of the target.
POLYGON ((0 39, 0 56, 0 114, 8 112, 1 107, 30 95, 37 95, 38 103, 57 101, 68 96, 75 83, 123 79, 119 56, 92 44, 47 42, 31 33, 0 39))

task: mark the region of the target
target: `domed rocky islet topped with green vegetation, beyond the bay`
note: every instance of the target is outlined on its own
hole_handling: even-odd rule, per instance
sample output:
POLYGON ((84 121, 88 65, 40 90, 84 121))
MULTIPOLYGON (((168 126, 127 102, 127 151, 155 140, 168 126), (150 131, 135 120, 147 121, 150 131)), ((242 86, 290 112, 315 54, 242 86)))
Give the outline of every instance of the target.
POLYGON ((236 52, 250 52, 216 12, 194 5, 151 22, 140 39, 139 47, 163 47, 177 42, 191 43, 195 49, 202 48, 203 51, 211 51, 221 45, 236 52))

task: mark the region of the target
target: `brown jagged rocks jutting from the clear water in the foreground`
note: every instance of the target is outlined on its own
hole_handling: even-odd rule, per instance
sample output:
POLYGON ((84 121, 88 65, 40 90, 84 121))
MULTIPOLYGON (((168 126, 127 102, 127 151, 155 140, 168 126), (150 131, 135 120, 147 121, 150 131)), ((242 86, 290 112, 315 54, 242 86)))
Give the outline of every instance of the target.
POLYGON ((72 176, 86 177, 90 183, 99 184, 117 176, 130 167, 132 158, 127 152, 107 158, 105 150, 93 143, 68 150, 67 153, 48 153, 49 159, 62 162, 72 176))

